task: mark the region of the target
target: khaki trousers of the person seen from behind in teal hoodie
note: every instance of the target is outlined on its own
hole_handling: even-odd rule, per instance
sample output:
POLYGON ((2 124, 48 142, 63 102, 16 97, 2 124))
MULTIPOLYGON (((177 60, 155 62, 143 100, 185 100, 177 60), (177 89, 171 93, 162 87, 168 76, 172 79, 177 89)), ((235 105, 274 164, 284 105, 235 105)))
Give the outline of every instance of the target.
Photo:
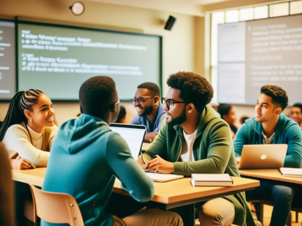
POLYGON ((113 216, 114 226, 183 226, 182 218, 175 212, 144 209, 123 219, 113 216))

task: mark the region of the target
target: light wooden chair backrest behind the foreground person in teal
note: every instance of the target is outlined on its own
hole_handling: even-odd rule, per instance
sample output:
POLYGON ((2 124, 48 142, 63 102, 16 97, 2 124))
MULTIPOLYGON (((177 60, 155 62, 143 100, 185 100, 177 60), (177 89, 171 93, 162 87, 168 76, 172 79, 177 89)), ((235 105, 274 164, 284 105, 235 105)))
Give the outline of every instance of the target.
POLYGON ((30 184, 36 216, 53 224, 85 226, 76 199, 69 194, 42 191, 30 184))

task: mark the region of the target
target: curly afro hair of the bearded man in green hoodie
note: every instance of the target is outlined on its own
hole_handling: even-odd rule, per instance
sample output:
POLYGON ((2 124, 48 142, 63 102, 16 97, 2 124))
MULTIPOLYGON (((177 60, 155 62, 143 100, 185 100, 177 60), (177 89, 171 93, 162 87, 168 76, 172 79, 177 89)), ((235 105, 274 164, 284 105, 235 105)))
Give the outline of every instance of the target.
POLYGON ((194 104, 197 111, 201 112, 213 98, 213 87, 202 76, 193 72, 180 71, 171 74, 167 80, 167 85, 180 90, 179 97, 194 104))

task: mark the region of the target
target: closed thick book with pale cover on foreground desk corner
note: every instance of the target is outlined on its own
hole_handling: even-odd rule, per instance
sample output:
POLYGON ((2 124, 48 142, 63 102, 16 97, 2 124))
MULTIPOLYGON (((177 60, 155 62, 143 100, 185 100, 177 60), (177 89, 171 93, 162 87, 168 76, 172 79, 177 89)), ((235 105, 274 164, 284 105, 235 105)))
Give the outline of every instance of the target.
POLYGON ((233 179, 229 174, 192 174, 191 184, 195 186, 232 186, 233 179))

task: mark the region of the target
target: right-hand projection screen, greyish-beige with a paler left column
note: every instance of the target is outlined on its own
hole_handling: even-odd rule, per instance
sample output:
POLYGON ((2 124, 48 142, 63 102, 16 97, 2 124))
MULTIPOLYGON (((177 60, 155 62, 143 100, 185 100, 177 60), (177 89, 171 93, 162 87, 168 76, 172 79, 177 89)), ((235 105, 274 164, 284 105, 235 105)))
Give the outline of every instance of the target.
POLYGON ((237 46, 237 50, 233 50, 238 52, 238 49, 245 49, 245 57, 236 62, 223 58, 223 55, 226 55, 223 49, 227 48, 224 46, 227 42, 221 44, 221 48, 218 49, 218 59, 223 60, 218 62, 218 102, 255 104, 261 86, 268 84, 281 86, 288 93, 289 105, 300 102, 301 20, 302 15, 295 15, 219 25, 219 40, 230 33, 231 25, 237 28, 237 33, 245 33, 245 36, 241 36, 240 46, 237 46), (243 23, 244 29, 243 26, 239 26, 243 23), (232 70, 238 63, 243 64, 245 69, 238 72, 235 77, 233 73, 227 71, 232 70), (224 70, 220 70, 220 67, 224 70), (220 83, 220 79, 229 80, 229 84, 220 83), (228 89, 236 89, 236 95, 231 96, 228 89))

